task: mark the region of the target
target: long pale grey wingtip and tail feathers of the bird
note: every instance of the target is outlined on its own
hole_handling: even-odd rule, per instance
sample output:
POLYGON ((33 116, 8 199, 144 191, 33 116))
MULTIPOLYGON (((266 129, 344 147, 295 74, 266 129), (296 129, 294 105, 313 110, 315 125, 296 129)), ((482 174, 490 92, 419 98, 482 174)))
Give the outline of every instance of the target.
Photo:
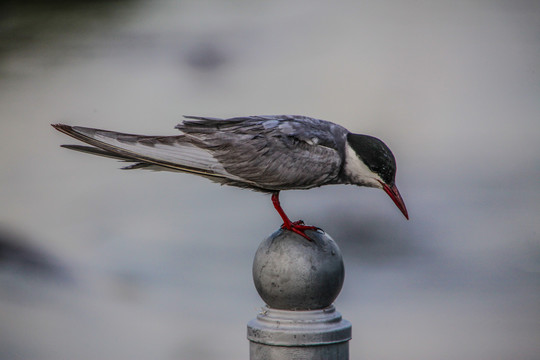
MULTIPOLYGON (((183 171, 198 175, 241 180, 225 171, 207 150, 179 136, 143 136, 62 124, 53 125, 75 139, 92 146, 64 145, 72 150, 136 162, 127 169, 151 168, 183 171)), ((219 181, 219 180, 217 180, 219 181)))

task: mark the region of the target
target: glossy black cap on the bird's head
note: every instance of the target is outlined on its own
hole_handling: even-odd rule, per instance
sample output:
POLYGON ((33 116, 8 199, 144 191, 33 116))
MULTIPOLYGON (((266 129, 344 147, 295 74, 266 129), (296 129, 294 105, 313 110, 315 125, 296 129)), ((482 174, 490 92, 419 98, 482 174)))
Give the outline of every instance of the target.
POLYGON ((378 174, 386 184, 396 177, 396 159, 381 140, 368 135, 347 134, 347 142, 367 167, 378 174))

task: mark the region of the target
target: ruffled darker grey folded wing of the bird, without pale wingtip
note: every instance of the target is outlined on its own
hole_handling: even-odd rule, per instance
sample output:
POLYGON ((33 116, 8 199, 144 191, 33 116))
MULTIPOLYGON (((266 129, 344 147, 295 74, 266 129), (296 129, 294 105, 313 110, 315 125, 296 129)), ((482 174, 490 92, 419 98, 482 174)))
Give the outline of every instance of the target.
POLYGON ((347 130, 330 122, 290 115, 187 118, 177 126, 185 136, 227 173, 263 189, 321 186, 341 169, 347 130))

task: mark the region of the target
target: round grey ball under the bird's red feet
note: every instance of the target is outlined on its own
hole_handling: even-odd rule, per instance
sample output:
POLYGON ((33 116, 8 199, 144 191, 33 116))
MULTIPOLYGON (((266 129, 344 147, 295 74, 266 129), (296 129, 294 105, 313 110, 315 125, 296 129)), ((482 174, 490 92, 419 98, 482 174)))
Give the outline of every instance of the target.
POLYGON ((259 245, 253 281, 270 308, 324 309, 341 291, 345 268, 338 246, 322 231, 306 234, 313 241, 280 229, 259 245))

